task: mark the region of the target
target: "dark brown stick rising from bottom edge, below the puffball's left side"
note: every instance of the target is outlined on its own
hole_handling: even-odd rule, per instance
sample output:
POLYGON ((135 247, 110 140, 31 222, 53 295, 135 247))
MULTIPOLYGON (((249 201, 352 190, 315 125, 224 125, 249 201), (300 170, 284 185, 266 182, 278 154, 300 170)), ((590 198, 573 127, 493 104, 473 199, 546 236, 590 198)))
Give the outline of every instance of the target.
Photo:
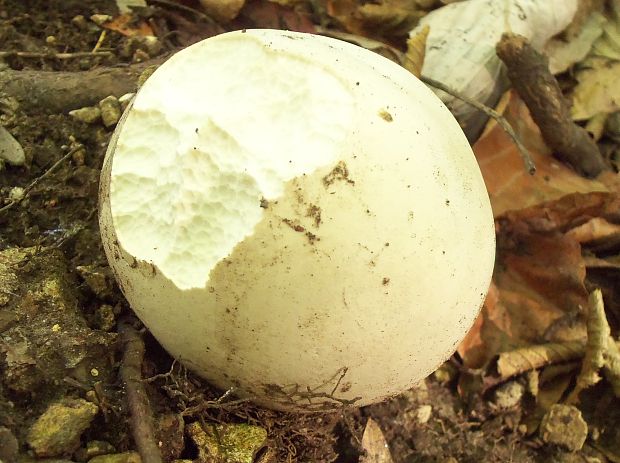
POLYGON ((144 341, 127 318, 119 321, 118 333, 124 349, 121 376, 127 391, 133 438, 143 463, 161 463, 161 454, 155 441, 153 413, 142 380, 144 341))

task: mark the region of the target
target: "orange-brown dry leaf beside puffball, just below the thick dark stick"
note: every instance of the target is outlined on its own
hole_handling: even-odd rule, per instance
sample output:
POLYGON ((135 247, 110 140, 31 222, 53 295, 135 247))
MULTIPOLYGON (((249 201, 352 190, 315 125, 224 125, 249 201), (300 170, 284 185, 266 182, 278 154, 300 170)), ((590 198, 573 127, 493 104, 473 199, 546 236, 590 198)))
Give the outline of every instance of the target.
MULTIPOLYGON (((620 79, 619 79, 620 80, 620 79)), ((537 172, 529 175, 519 151, 510 137, 494 121, 474 145, 474 152, 484 177, 495 217, 506 211, 520 210, 568 193, 608 191, 608 187, 588 180, 551 156, 540 131, 525 104, 510 92, 504 116, 530 150, 537 172)))

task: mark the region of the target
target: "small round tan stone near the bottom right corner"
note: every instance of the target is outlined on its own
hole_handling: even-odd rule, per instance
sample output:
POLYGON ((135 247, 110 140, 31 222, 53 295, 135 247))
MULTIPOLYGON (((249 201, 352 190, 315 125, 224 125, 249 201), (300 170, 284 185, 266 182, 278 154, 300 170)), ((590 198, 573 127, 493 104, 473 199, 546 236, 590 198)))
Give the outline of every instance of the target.
POLYGON ((581 450, 588 437, 588 425, 577 407, 555 404, 540 423, 540 437, 547 444, 576 452, 581 450))

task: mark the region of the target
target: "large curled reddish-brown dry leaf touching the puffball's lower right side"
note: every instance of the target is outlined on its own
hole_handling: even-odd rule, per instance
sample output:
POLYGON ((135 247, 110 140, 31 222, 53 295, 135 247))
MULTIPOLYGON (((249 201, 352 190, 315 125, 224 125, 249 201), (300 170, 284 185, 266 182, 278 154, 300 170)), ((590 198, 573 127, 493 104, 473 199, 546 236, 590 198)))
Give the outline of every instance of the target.
POLYGON ((620 196, 567 195, 497 219, 493 284, 458 349, 467 367, 484 367, 499 353, 541 342, 585 339, 577 315, 588 296, 578 240, 586 228, 577 227, 594 218, 620 226, 620 196))

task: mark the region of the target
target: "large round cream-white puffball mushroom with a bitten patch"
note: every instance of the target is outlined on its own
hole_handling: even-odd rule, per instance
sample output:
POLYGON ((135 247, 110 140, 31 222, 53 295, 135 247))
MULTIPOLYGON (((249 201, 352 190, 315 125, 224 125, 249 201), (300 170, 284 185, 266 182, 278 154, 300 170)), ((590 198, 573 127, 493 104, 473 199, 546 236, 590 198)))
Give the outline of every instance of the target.
POLYGON ((277 30, 177 53, 108 148, 127 300, 214 385, 283 410, 398 394, 455 350, 495 255, 471 148, 400 66, 277 30))

